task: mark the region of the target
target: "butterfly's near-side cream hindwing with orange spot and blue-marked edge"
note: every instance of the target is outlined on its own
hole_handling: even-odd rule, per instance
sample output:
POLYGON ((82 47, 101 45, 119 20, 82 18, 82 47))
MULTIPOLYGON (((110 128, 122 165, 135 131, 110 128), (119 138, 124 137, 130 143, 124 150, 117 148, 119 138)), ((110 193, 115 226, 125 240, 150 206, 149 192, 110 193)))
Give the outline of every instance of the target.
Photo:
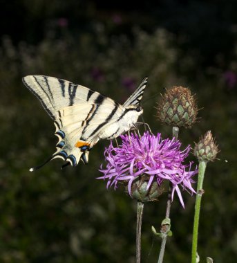
POLYGON ((88 163, 89 151, 101 138, 99 131, 109 122, 117 120, 122 111, 121 105, 111 103, 106 98, 99 104, 90 102, 61 109, 60 117, 55 120, 55 134, 59 137, 59 143, 53 158, 63 158, 73 166, 78 164, 80 158, 88 163))

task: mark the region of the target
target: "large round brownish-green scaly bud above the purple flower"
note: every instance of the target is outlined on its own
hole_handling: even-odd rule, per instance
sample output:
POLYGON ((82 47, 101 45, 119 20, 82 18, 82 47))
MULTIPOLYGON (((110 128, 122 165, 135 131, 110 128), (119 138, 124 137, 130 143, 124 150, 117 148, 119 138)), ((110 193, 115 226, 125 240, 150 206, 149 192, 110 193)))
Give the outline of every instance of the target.
POLYGON ((188 88, 167 89, 158 103, 158 119, 175 127, 191 127, 196 122, 198 107, 188 88))

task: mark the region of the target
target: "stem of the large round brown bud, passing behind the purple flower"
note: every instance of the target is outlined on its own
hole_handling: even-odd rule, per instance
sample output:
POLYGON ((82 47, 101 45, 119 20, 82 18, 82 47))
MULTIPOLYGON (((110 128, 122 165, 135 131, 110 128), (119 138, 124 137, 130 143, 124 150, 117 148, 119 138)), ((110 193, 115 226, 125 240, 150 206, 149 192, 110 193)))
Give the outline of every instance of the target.
MULTIPOLYGON (((173 133, 173 137, 175 137, 176 140, 178 139, 178 131, 179 131, 178 127, 173 127, 172 133, 173 133)), ((172 190, 172 184, 169 183, 169 194, 168 194, 167 210, 165 212, 165 218, 169 218, 169 215, 170 215, 170 210, 171 210, 171 190, 172 190)), ((164 225, 164 226, 161 226, 160 232, 161 233, 166 233, 167 230, 168 230, 167 226, 164 225)), ((167 243, 167 235, 164 235, 164 237, 162 237, 162 241, 161 241, 160 255, 159 255, 158 263, 162 263, 163 262, 164 250, 165 250, 166 243, 167 243)))

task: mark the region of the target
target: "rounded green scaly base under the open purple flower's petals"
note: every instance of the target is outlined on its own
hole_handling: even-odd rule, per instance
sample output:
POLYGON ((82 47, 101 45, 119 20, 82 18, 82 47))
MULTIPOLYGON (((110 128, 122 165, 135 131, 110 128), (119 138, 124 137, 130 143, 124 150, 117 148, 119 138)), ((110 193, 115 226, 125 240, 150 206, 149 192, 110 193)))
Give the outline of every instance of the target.
MULTIPOLYGON (((158 201, 158 197, 164 192, 164 189, 155 181, 151 184, 150 188, 147 188, 148 183, 149 177, 145 174, 133 181, 131 185, 131 197, 142 203, 158 201)), ((129 192, 128 189, 126 191, 129 192)))

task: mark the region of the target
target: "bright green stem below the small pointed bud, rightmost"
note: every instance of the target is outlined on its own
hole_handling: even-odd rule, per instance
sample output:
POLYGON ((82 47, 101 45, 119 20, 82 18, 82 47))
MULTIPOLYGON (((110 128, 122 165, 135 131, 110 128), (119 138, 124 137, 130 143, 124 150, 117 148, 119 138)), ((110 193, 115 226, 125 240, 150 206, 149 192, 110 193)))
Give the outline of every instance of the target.
POLYGON ((200 206, 201 206, 202 194, 204 193, 204 190, 202 189, 202 184, 203 184, 206 167, 207 167, 207 163, 205 161, 200 161, 198 166, 198 187, 197 187, 194 221, 193 221, 193 244, 191 251, 191 263, 196 263, 196 255, 198 249, 198 224, 199 224, 199 216, 200 216, 200 206))

